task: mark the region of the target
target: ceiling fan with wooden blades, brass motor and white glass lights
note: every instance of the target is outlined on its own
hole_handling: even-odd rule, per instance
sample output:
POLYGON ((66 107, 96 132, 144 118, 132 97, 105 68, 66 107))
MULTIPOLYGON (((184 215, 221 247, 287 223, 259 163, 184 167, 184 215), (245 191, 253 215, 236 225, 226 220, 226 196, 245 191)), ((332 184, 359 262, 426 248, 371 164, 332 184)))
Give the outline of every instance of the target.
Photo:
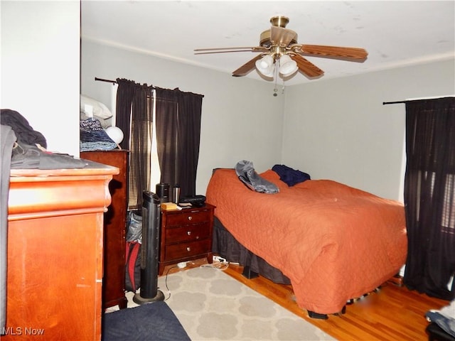
POLYGON ((289 18, 285 16, 274 16, 270 19, 270 23, 272 23, 271 28, 260 35, 259 46, 198 48, 194 50, 195 54, 257 52, 259 55, 232 72, 232 76, 242 77, 256 68, 265 77, 277 77, 279 73, 283 79, 291 77, 297 70, 309 78, 323 75, 323 70, 307 60, 305 56, 357 62, 363 62, 367 58, 368 53, 363 48, 297 43, 297 33, 286 28, 289 18))

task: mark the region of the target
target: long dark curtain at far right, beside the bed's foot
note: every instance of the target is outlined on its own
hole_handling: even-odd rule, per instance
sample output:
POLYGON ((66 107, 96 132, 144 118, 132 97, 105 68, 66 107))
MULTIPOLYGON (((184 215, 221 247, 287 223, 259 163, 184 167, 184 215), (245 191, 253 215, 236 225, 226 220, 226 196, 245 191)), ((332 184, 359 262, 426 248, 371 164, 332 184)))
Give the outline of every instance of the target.
POLYGON ((455 98, 406 102, 405 285, 452 300, 455 273, 455 98))

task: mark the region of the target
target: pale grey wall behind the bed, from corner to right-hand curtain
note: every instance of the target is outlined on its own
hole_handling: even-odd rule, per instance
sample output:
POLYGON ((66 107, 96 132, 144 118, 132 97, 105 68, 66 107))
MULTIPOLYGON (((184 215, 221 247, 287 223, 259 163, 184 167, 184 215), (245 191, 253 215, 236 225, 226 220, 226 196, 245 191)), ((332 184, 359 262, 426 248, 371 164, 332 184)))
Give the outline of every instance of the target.
POLYGON ((415 65, 290 87, 284 164, 395 200, 402 198, 405 104, 455 94, 455 63, 415 65))

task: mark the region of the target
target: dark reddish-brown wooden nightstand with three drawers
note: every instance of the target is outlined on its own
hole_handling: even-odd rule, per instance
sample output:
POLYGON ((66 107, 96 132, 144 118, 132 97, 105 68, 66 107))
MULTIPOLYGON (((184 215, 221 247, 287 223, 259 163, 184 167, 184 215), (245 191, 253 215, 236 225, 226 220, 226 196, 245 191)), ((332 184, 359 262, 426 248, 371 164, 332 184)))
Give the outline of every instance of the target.
POLYGON ((159 275, 164 267, 207 256, 213 262, 212 229, 215 206, 161 211, 159 275))

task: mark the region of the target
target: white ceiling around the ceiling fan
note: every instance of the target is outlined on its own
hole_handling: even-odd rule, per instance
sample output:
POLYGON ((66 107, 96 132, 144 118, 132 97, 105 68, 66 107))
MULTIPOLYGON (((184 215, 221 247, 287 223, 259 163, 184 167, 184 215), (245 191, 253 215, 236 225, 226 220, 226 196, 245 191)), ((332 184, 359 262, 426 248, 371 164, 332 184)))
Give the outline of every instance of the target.
MULTIPOLYGON (((455 1, 81 1, 81 36, 226 72, 257 53, 195 55, 195 48, 257 46, 272 16, 287 16, 298 42, 365 48, 363 63, 307 59, 343 77, 455 55, 455 1)), ((259 79, 253 70, 246 77, 259 79)), ((297 73, 287 85, 314 82, 297 73)))

